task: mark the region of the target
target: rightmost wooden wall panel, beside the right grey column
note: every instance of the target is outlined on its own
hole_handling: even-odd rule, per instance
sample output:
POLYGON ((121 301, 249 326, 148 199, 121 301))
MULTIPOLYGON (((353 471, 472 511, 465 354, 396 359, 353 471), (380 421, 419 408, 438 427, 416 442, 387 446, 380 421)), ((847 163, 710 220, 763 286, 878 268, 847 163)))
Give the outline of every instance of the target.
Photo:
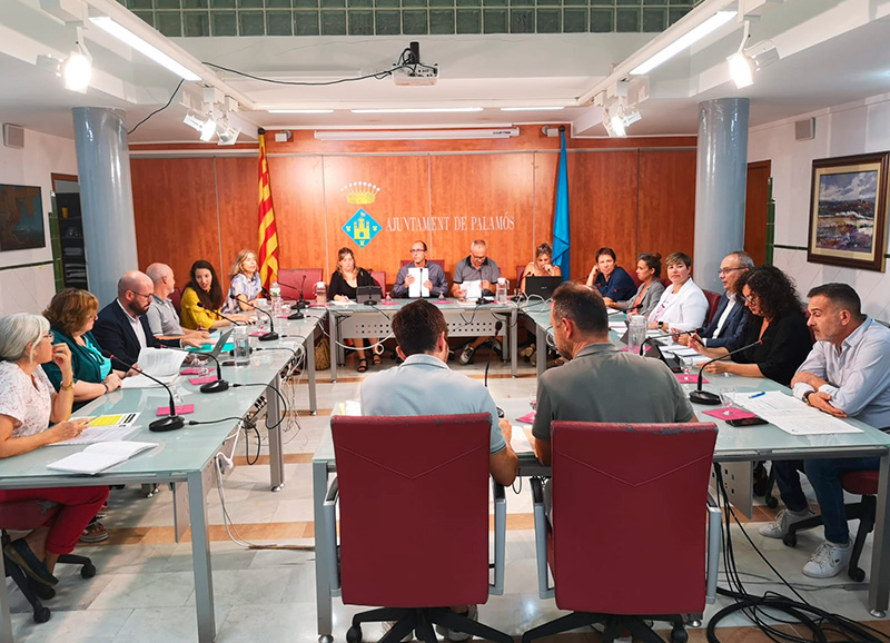
POLYGON ((642 150, 639 251, 686 253, 694 273, 694 240, 695 150, 642 150))

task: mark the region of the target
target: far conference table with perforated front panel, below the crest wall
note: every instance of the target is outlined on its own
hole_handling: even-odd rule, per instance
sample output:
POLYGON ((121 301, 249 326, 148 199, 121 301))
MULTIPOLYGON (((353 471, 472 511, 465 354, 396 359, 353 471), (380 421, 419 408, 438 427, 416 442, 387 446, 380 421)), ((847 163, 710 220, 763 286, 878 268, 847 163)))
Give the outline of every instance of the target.
MULTIPOLYGON (((337 364, 343 363, 340 339, 358 339, 365 337, 385 339, 392 334, 390 320, 402 307, 414 299, 393 299, 380 304, 367 305, 350 301, 348 304, 332 303, 327 305, 330 333, 330 380, 337 380, 337 364)), ((490 337, 508 336, 511 375, 516 377, 516 324, 518 308, 513 301, 506 304, 459 303, 452 298, 431 298, 431 304, 438 306, 448 325, 448 337, 490 337), (497 323, 502 324, 495 333, 497 323)))

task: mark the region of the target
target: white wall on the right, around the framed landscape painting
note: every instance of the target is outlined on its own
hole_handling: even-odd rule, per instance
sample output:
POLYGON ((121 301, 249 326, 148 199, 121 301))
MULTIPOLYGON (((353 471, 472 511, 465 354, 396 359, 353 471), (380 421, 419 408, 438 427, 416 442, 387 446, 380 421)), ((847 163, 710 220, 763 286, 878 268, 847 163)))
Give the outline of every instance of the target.
MULTIPOLYGON (((794 140, 794 120, 753 128, 748 160, 772 161, 775 199, 774 263, 797 281, 801 297, 819 284, 843 281, 856 288, 863 310, 890 319, 890 275, 807 263, 812 161, 847 155, 890 150, 890 93, 814 112, 815 138, 794 140)), ((883 212, 887 217, 887 212, 883 212)), ((890 228, 890 226, 887 226, 890 228)), ((890 261, 888 261, 890 268, 890 261)))

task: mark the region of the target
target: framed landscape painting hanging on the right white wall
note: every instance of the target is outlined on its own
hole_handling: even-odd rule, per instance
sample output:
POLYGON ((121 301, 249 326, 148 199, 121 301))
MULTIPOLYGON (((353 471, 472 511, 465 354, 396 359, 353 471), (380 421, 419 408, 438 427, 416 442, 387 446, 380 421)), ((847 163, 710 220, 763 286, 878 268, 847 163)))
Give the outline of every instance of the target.
POLYGON ((807 260, 883 271, 890 152, 813 161, 807 260))

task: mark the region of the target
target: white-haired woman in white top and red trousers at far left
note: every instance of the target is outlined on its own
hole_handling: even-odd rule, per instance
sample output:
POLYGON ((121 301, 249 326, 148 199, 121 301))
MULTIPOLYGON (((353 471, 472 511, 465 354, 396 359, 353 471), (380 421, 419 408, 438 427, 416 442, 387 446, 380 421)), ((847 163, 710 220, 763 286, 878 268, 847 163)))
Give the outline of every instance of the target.
MULTIPOLYGON (((0 318, 0 457, 77 437, 86 422, 71 422, 75 376, 71 352, 52 344, 49 322, 17 313, 0 318), (53 362, 62 375, 55 392, 41 364, 53 362), (50 423, 56 423, 49 426, 50 423)), ((53 586, 62 554, 73 551, 83 528, 108 499, 107 486, 0 491, 0 503, 48 501, 61 505, 50 524, 9 543, 4 552, 36 582, 53 586)))

